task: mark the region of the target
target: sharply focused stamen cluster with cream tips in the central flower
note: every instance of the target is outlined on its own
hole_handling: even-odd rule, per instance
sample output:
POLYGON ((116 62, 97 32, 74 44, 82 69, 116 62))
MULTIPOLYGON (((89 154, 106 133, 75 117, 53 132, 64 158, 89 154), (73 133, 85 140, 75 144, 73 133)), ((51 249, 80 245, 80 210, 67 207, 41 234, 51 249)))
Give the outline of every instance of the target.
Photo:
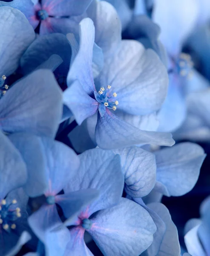
POLYGON ((98 103, 104 105, 106 108, 116 110, 119 102, 116 100, 118 96, 117 93, 112 92, 111 86, 108 85, 107 88, 101 87, 100 90, 94 93, 95 99, 98 103))

